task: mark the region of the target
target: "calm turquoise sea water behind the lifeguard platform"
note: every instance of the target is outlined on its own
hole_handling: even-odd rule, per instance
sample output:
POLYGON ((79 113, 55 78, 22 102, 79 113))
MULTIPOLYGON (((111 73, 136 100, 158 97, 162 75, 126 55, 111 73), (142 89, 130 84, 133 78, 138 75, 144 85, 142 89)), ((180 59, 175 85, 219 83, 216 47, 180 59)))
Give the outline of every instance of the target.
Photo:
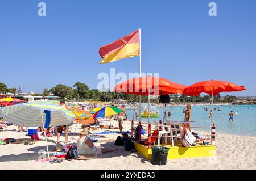
MULTIPOLYGON (((231 105, 230 105, 231 106, 231 105)), ((255 136, 256 137, 256 105, 254 106, 221 106, 221 111, 213 111, 213 123, 216 124, 216 132, 230 133, 242 136, 255 136), (229 112, 234 111, 233 122, 229 121, 229 112), (237 112, 237 114, 236 114, 237 112)), ((204 111, 205 106, 192 106, 191 126, 205 126, 210 125, 210 110, 204 111)), ((210 106, 208 106, 210 107, 210 106)), ((214 106, 217 107, 218 106, 214 106)), ((162 107, 157 107, 162 117, 162 107)), ((164 110, 172 110, 171 120, 182 121, 184 114, 182 113, 183 107, 165 107, 164 110)), ((127 110, 129 119, 133 119, 133 111, 127 110)), ((159 121, 161 118, 151 118, 151 122, 159 121)), ((147 119, 142 118, 142 122, 147 123, 147 119)), ((210 132, 210 128, 195 128, 210 132)))

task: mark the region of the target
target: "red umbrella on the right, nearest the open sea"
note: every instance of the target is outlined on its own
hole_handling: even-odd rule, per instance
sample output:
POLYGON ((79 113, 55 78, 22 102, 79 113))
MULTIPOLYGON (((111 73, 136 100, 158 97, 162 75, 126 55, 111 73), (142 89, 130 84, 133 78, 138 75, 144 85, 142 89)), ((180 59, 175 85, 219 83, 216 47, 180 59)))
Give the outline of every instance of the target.
POLYGON ((189 96, 197 96, 201 93, 207 93, 212 95, 212 117, 211 117, 211 125, 213 122, 213 96, 216 96, 220 92, 237 92, 246 90, 243 86, 238 86, 231 82, 226 81, 202 81, 194 83, 191 86, 188 86, 184 89, 183 94, 189 96))

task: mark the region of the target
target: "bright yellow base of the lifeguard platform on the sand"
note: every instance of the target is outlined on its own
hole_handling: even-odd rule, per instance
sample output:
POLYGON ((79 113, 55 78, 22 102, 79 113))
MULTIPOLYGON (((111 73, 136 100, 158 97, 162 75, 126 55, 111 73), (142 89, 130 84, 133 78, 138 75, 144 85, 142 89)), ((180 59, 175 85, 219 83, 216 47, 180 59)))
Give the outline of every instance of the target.
MULTIPOLYGON (((148 149, 148 146, 138 144, 135 141, 133 142, 136 150, 139 151, 139 153, 141 153, 146 159, 149 159, 151 161, 152 149, 148 149)), ((170 148, 167 157, 168 159, 213 157, 216 154, 216 146, 214 145, 200 145, 200 143, 197 143, 196 146, 191 147, 183 147, 181 144, 177 144, 174 147, 172 147, 171 145, 161 146, 166 146, 170 148)))

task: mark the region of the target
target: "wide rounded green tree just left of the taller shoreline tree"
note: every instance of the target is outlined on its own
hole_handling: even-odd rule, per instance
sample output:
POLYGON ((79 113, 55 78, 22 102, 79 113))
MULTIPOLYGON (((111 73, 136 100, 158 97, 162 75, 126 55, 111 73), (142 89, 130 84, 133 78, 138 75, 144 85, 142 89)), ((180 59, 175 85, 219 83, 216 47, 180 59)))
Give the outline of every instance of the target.
POLYGON ((59 96, 60 98, 67 98, 68 100, 71 100, 74 95, 74 91, 71 87, 62 84, 58 84, 55 87, 52 87, 49 91, 59 96))

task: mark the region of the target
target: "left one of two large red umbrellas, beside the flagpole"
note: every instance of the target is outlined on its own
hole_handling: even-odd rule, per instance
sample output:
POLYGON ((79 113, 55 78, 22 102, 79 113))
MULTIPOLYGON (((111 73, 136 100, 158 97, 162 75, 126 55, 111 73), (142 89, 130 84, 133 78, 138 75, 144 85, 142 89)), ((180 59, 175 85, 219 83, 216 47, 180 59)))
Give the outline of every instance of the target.
MULTIPOLYGON (((181 94, 186 86, 171 82, 160 77, 139 77, 119 83, 114 92, 135 95, 148 95, 148 114, 150 111, 150 95, 181 94)), ((139 106, 141 120, 141 105, 139 106)), ((148 123, 150 116, 148 116, 148 123)))

